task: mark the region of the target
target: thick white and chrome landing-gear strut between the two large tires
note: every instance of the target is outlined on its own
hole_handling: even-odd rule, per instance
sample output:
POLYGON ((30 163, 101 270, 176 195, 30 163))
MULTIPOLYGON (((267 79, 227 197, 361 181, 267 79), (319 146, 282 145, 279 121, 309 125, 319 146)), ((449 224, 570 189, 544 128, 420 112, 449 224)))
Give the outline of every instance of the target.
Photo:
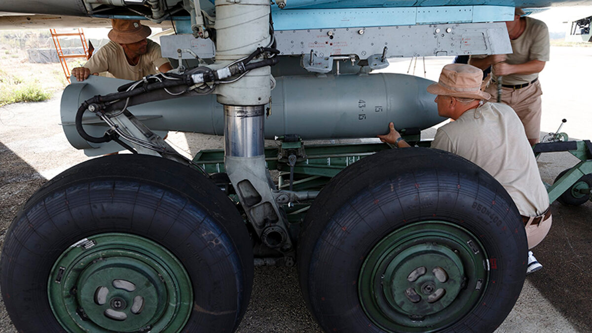
MULTIPOLYGON (((226 66, 268 47, 269 0, 216 0, 216 66, 226 66)), ((260 59, 253 59, 253 62, 260 59)), ((274 196, 265 164, 263 121, 271 96, 269 66, 252 69, 216 89, 224 105, 224 167, 244 212, 263 243, 284 253, 294 249, 284 210, 274 196)))

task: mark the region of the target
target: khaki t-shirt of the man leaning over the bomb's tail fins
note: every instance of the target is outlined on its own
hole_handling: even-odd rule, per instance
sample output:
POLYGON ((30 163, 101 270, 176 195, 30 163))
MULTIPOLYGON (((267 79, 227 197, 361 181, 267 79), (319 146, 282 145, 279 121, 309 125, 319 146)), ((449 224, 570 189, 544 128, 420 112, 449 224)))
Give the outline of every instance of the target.
POLYGON ((115 78, 136 81, 146 75, 158 73, 157 68, 168 62, 160 53, 160 45, 148 40, 146 54, 140 56, 137 65, 130 65, 123 47, 109 41, 83 67, 90 69, 91 73, 109 72, 115 78))

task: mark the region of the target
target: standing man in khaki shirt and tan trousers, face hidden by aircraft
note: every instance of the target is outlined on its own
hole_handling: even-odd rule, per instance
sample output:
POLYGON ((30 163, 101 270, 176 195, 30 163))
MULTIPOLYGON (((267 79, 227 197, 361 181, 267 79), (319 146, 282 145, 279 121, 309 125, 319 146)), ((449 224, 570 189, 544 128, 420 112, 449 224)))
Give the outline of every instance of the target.
POLYGON ((530 145, 539 142, 542 90, 539 72, 549 60, 549 30, 545 23, 516 8, 514 20, 506 22, 510 55, 471 56, 469 64, 485 69, 493 65, 491 85, 485 89, 497 97, 501 82, 501 101, 510 105, 522 121, 530 145))

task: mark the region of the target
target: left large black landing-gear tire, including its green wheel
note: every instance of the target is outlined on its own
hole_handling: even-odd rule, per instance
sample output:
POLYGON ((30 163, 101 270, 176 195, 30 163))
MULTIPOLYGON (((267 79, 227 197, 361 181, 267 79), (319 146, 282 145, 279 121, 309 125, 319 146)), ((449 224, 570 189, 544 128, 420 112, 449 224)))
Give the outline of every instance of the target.
MULTIPOLYGON (((239 325, 252 290, 253 252, 246 226, 229 198, 199 172, 177 162, 147 155, 115 155, 86 161, 57 175, 27 201, 8 229, 0 261, 0 283, 6 308, 19 332, 76 331, 76 321, 88 325, 86 329, 90 327, 88 330, 93 332, 124 331, 119 324, 101 326, 93 322, 94 317, 82 318, 89 313, 78 309, 69 316, 56 316, 50 308, 51 303, 58 309, 70 310, 67 306, 60 308, 60 302, 72 301, 48 296, 48 290, 67 293, 56 283, 66 286, 66 273, 71 276, 79 273, 76 267, 67 268, 62 276, 64 268, 54 267, 54 263, 69 260, 66 254, 72 254, 73 249, 82 251, 78 248, 86 245, 79 241, 85 238, 91 242, 101 239, 94 246, 98 249, 107 246, 108 254, 101 254, 83 266, 86 268, 82 271, 95 267, 95 271, 103 272, 106 277, 111 271, 97 270, 95 262, 111 260, 119 267, 113 273, 117 274, 132 260, 125 255, 144 260, 133 261, 129 266, 133 269, 125 268, 133 274, 140 271, 144 274, 141 278, 160 291, 155 300, 140 298, 136 311, 141 305, 140 310, 147 312, 146 307, 152 306, 150 302, 160 311, 163 308, 159 306, 169 306, 166 302, 173 302, 172 297, 176 297, 179 302, 176 308, 185 310, 186 314, 166 308, 171 312, 162 317, 172 319, 167 319, 170 320, 167 324, 162 317, 157 319, 154 315, 150 320, 159 321, 152 324, 153 330, 231 332, 239 325), (124 244, 120 248, 118 244, 110 244, 113 235, 132 245, 124 244), (72 246, 75 244, 79 246, 72 246), (123 248, 127 252, 120 255, 118 251, 123 248), (151 252, 153 248, 159 252, 151 252), (162 259, 161 254, 169 257, 162 259), (160 281, 150 274, 157 274, 160 281), (178 290, 165 294, 164 287, 178 290), (187 293, 191 290, 192 293, 187 293), (168 298, 161 302, 161 296, 168 298)), ((90 283, 90 279, 82 281, 82 274, 75 286, 86 287, 90 283)), ((126 290, 131 293, 135 286, 126 290)), ((81 290, 72 290, 71 294, 77 292, 82 294, 81 290)), ((121 287, 115 292, 126 296, 121 287)), ((107 295, 111 297, 114 292, 107 295)), ((66 294, 64 298, 69 296, 66 294)), ((136 298, 133 305, 127 304, 126 311, 130 307, 133 311, 136 298)), ((85 310, 80 304, 74 306, 85 310)), ((144 324, 125 331, 146 330, 149 324, 144 324)))

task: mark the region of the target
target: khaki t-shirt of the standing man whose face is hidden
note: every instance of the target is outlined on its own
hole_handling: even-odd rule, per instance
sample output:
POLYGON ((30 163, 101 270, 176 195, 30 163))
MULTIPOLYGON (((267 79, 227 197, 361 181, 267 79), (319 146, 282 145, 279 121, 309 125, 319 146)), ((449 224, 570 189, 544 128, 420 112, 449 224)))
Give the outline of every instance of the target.
MULTIPOLYGON (((506 62, 511 65, 529 62, 530 60, 549 61, 549 29, 543 21, 526 17, 526 28, 517 39, 510 40, 512 53, 507 55, 506 62)), ((484 58, 487 55, 471 56, 484 58)), ((504 75, 503 84, 525 84, 539 77, 539 73, 504 75)), ((497 81, 495 73, 491 78, 497 81)))

